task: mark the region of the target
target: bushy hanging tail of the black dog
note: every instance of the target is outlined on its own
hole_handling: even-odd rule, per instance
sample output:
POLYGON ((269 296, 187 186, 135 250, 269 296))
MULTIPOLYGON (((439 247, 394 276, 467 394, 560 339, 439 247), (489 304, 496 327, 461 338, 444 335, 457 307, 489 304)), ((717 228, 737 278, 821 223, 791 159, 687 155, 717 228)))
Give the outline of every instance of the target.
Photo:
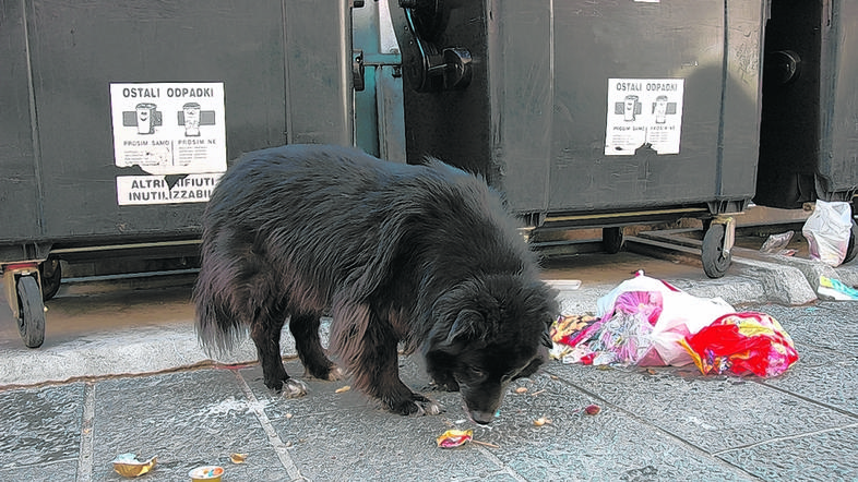
POLYGON ((235 264, 224 256, 215 252, 205 253, 204 250, 193 302, 196 308, 196 336, 208 354, 231 351, 247 336, 246 313, 238 309, 241 303, 235 282, 236 269, 235 264))

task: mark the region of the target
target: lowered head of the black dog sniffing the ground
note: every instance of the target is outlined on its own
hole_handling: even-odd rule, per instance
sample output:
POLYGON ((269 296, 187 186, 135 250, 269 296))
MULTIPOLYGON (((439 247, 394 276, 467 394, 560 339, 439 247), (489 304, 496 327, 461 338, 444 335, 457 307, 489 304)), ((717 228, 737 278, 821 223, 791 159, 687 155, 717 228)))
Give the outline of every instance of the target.
POLYGON ((470 418, 489 423, 510 382, 532 375, 550 346, 556 293, 538 280, 491 276, 441 297, 425 346, 436 383, 458 388, 470 418))

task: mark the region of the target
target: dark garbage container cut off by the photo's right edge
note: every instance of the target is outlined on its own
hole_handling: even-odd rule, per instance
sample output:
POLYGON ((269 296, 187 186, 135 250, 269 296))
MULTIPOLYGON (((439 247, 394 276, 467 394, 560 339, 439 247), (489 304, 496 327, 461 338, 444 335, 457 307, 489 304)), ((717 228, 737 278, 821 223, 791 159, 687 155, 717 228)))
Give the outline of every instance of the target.
POLYGON ((798 208, 858 189, 858 1, 773 0, 754 203, 798 208))

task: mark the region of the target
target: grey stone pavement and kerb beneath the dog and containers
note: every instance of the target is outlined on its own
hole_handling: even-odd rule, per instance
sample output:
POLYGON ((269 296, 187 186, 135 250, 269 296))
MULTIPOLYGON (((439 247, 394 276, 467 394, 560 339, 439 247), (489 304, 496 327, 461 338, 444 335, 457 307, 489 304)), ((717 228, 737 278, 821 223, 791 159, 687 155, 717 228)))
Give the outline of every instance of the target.
MULTIPOLYGON (((546 278, 582 280, 561 301, 586 313, 636 269, 773 315, 799 361, 770 379, 551 362, 479 426, 457 394, 430 393, 446 411, 412 418, 343 391, 348 381, 308 381, 309 396, 278 398, 250 345, 229 364, 200 350, 187 284, 100 293, 72 280, 47 303, 41 349, 23 348, 0 306, 0 481, 120 480, 109 462, 123 453, 158 457, 140 478, 151 481, 189 480, 212 463, 225 481, 858 480, 858 303, 817 300, 813 285, 820 272, 855 285, 858 268, 738 250, 727 276, 710 280, 695 266, 620 253, 551 263, 546 278), (581 411, 591 403, 601 411, 581 411), (479 443, 436 447, 448 429, 473 429, 479 443)), ((419 360, 403 358, 402 372, 426 389, 419 360)))

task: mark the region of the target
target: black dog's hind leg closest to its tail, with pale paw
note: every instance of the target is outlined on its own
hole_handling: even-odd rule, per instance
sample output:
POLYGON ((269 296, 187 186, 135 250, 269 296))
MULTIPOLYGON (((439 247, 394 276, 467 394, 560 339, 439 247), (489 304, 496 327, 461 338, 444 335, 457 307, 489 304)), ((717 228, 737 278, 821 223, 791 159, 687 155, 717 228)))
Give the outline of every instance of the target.
POLYGON ((307 395, 307 385, 299 379, 291 378, 283 366, 281 332, 285 322, 285 313, 267 313, 265 310, 258 310, 250 324, 250 338, 257 346, 265 386, 283 394, 286 398, 301 397, 307 395))

